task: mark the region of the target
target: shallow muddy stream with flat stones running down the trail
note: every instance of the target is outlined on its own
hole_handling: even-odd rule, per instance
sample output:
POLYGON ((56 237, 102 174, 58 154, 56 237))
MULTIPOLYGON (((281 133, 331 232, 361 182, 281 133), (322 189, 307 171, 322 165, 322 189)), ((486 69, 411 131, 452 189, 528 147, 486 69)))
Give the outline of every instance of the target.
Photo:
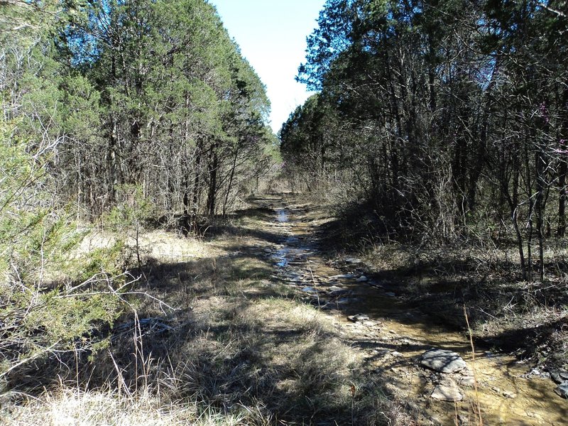
POLYGON ((568 400, 555 394, 550 379, 527 378, 529 366, 511 356, 476 348, 474 359, 466 335, 444 329, 380 283, 361 277, 363 265, 358 259, 347 259, 357 273, 328 266, 318 253, 315 228, 302 210, 276 209, 273 226, 283 236, 271 254, 280 278, 297 286, 313 305, 335 315, 345 339, 364 351, 368 371, 384 378, 410 407, 425 410, 443 425, 479 425, 478 406, 484 425, 568 425, 568 400), (347 320, 356 314, 365 314, 368 320, 347 320), (421 354, 434 347, 456 351, 469 366, 469 373, 452 378, 464 393, 464 400, 456 405, 430 398, 443 375, 419 364, 421 354))

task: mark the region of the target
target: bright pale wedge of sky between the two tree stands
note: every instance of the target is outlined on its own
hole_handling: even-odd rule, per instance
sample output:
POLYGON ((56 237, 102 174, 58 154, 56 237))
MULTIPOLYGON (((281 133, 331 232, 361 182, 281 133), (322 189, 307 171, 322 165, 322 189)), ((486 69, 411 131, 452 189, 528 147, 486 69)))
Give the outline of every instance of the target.
POLYGON ((312 94, 295 82, 305 62, 306 37, 317 27, 325 0, 209 0, 229 35, 266 85, 271 126, 280 130, 295 107, 312 94))

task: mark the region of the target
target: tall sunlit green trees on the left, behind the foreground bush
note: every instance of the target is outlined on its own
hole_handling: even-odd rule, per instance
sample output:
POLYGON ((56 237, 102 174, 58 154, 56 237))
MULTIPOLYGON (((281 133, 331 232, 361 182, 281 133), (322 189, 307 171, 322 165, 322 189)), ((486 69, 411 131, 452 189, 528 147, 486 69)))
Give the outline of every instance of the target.
POLYGON ((265 88, 207 1, 1 7, 4 119, 49 147, 58 200, 86 217, 129 185, 163 212, 226 213, 268 161, 265 88))

